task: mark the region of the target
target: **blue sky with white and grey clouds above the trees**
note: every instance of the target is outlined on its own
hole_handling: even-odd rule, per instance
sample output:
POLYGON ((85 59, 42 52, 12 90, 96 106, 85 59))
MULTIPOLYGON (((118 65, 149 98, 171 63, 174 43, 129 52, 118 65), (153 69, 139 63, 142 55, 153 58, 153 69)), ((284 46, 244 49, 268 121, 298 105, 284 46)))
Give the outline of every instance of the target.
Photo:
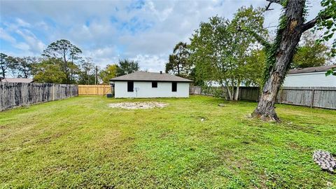
MULTIPOLYGON (((309 1, 309 18, 321 9, 309 1)), ((11 56, 39 56, 45 47, 67 39, 104 67, 134 59, 141 70, 165 69, 179 41, 188 42, 200 22, 228 19, 241 6, 265 7, 266 0, 228 1, 2 1, 0 50, 11 56)), ((265 27, 278 23, 280 6, 265 13, 265 27)), ((274 27, 273 27, 274 29, 274 27)))

